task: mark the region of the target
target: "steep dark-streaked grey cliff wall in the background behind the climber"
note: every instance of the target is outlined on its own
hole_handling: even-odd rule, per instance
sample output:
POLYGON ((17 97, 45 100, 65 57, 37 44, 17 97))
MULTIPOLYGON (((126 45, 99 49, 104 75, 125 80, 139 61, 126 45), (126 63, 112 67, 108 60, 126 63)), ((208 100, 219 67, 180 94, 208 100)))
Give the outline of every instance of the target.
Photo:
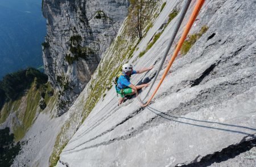
POLYGON ((67 111, 89 82, 128 6, 127 0, 43 1, 47 19, 43 61, 49 82, 59 89, 57 115, 67 111))

